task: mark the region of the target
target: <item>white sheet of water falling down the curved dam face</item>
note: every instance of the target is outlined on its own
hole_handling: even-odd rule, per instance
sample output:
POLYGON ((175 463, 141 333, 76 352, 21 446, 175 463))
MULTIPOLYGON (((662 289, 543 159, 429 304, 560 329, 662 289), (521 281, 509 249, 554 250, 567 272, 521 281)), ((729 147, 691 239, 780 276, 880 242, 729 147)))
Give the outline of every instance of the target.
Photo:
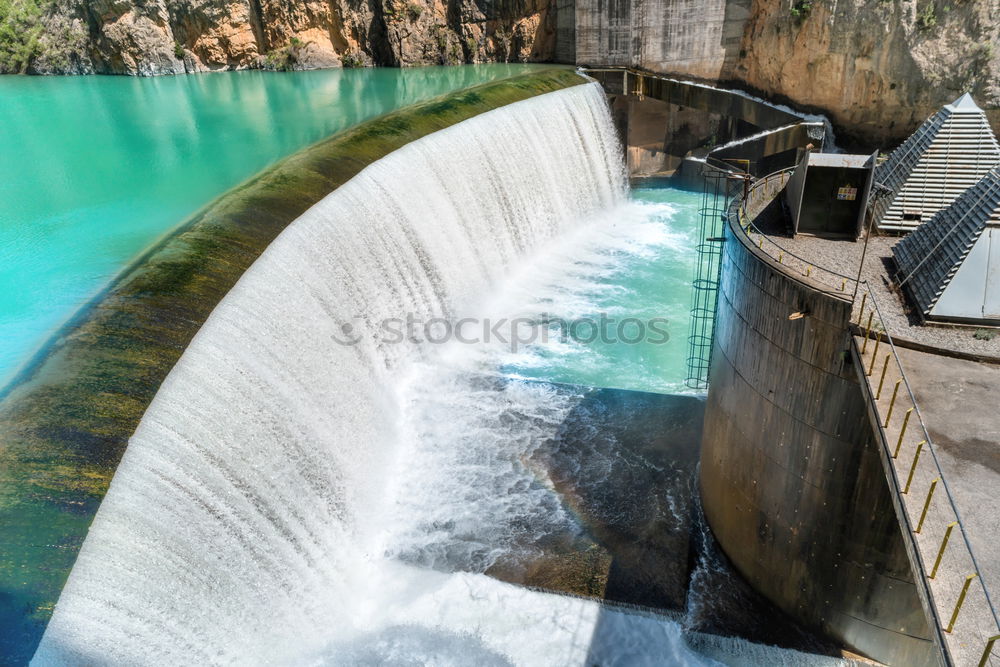
POLYGON ((384 563, 397 388, 422 347, 373 332, 460 314, 625 192, 587 84, 424 137, 316 204, 164 381, 35 663, 287 663, 428 585, 384 563))

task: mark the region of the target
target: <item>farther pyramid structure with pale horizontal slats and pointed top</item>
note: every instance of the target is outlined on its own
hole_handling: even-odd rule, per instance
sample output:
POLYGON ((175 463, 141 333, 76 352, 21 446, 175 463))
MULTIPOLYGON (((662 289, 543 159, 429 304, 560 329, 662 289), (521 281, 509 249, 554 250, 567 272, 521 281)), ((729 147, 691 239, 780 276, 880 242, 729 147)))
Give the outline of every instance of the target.
POLYGON ((879 165, 873 217, 906 233, 948 207, 1000 163, 986 115, 966 93, 928 118, 879 165))

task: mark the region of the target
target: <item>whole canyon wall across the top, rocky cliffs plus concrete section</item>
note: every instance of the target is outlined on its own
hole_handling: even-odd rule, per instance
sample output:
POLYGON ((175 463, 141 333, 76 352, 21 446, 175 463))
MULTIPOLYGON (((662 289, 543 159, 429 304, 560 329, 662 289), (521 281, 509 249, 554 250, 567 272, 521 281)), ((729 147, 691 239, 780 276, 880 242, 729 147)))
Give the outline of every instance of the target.
MULTIPOLYGON (((1000 0, 0 0, 0 72, 558 61, 759 92, 886 146, 971 91, 1000 130, 1000 0), (41 4, 38 4, 41 3, 41 4), (15 5, 10 5, 15 6, 15 5), (20 36, 20 37, 17 37, 20 36), (5 57, 7 52, 15 54, 5 57)), ((851 141, 853 140, 853 141, 851 141)))

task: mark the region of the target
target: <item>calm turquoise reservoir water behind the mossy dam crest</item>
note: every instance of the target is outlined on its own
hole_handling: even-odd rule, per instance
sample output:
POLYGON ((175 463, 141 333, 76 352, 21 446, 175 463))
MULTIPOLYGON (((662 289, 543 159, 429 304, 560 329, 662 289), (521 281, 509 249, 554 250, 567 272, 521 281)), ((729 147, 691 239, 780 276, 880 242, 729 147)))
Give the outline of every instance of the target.
POLYGON ((361 120, 531 67, 0 77, 0 385, 227 189, 361 120))

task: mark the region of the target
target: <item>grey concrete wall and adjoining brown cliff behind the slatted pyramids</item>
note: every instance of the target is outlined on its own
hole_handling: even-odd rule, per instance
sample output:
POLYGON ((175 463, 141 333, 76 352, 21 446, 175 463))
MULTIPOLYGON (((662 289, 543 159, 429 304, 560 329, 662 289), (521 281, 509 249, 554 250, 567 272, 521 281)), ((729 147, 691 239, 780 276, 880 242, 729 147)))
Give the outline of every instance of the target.
POLYGON ((825 113, 849 143, 899 141, 969 91, 1000 130, 1000 0, 576 0, 575 11, 577 63, 758 92, 825 113))

